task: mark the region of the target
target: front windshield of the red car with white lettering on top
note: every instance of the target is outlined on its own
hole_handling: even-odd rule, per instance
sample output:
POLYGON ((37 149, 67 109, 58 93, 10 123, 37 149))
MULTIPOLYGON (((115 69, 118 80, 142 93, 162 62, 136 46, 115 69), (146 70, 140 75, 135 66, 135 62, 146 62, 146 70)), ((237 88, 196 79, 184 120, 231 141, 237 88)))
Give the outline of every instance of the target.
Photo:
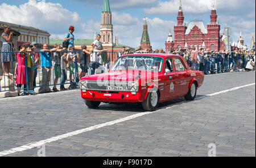
POLYGON ((110 71, 139 70, 161 72, 163 59, 150 56, 125 56, 120 57, 110 71))

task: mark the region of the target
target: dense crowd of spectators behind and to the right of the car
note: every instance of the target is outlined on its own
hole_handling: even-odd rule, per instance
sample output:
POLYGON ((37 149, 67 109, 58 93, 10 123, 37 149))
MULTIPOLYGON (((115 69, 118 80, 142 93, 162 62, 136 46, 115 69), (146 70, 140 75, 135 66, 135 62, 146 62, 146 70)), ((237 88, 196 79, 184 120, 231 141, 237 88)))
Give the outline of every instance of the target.
POLYGON ((133 53, 162 53, 175 54, 185 58, 191 70, 203 71, 205 75, 221 74, 224 72, 253 71, 255 70, 255 44, 252 49, 234 49, 231 53, 228 50, 213 50, 201 48, 176 49, 166 53, 163 49, 141 50, 141 48, 130 51, 130 48, 123 48, 119 55, 133 53))

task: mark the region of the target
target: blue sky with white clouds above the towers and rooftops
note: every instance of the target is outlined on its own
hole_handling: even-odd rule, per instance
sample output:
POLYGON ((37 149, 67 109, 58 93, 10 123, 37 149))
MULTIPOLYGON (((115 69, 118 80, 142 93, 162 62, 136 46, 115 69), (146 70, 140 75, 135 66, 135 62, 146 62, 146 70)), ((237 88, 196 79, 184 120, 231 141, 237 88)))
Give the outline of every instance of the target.
MULTIPOLYGON (((169 28, 177 19, 179 0, 109 0, 119 43, 133 47, 140 44, 144 16, 153 49, 165 48, 169 28)), ((214 0, 181 0, 185 23, 199 19, 205 27, 210 21, 214 0)), ((237 42, 242 27, 245 44, 250 46, 251 33, 255 35, 254 0, 215 0, 218 21, 233 29, 237 42)), ((77 39, 93 39, 100 32, 103 0, 0 0, 0 20, 43 29, 50 38, 63 38, 69 25, 76 27, 77 39)), ((174 32, 172 31, 172 35, 174 32)))

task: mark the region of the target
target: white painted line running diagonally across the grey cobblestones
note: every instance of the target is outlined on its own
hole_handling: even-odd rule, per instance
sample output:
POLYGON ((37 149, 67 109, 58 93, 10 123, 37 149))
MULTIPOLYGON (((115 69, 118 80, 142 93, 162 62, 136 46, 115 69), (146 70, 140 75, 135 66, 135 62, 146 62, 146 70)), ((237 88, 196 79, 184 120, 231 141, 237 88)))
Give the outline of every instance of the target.
MULTIPOLYGON (((221 93, 226 93, 226 92, 234 91, 234 90, 237 90, 237 89, 249 87, 249 86, 251 86, 251 85, 255 85, 255 83, 253 83, 253 84, 248 84, 248 85, 243 85, 243 86, 241 86, 241 87, 236 87, 236 88, 228 89, 228 90, 221 91, 221 92, 216 92, 216 93, 212 93, 212 94, 207 94, 206 96, 215 96, 215 95, 217 95, 217 94, 221 94, 221 93)), ((172 106, 169 106, 169 107, 165 107, 165 108, 163 108, 163 109, 170 109, 171 107, 175 107, 175 106, 177 106, 177 105, 172 105, 172 106)), ((128 117, 125 117, 125 118, 113 120, 113 121, 111 121, 111 122, 106 122, 106 123, 98 124, 98 125, 96 125, 96 126, 92 126, 92 127, 88 127, 88 128, 83 128, 83 129, 81 129, 81 130, 77 130, 77 131, 65 133, 65 134, 63 134, 63 135, 59 135, 59 136, 55 136, 55 137, 51 137, 51 138, 46 139, 46 140, 42 140, 42 141, 38 141, 38 142, 35 142, 35 143, 30 143, 30 144, 27 144, 27 145, 23 145, 23 146, 18 147, 18 148, 13 148, 13 149, 10 149, 10 150, 4 150, 4 151, 0 152, 0 157, 1 157, 1 156, 6 156, 6 155, 11 154, 11 153, 22 152, 22 151, 24 151, 24 150, 36 148, 36 147, 39 147, 39 146, 41 146, 41 145, 44 145, 44 144, 47 144, 47 143, 51 143, 51 142, 53 142, 53 141, 65 139, 65 138, 67 138, 67 137, 71 137, 71 136, 74 136, 74 135, 79 135, 79 134, 81 134, 81 133, 88 132, 88 131, 92 131, 92 130, 96 130, 96 129, 98 129, 98 128, 102 128, 102 127, 106 127, 106 126, 112 126, 112 125, 117 124, 117 123, 121 123, 121 122, 125 122, 125 121, 127 121, 127 120, 131 120, 131 119, 134 119, 134 118, 142 117, 143 115, 156 113, 156 112, 158 112, 158 111, 162 111, 163 109, 159 109, 159 110, 152 111, 152 112, 137 113, 137 114, 134 114, 134 115, 130 115, 130 116, 128 116, 128 117)))

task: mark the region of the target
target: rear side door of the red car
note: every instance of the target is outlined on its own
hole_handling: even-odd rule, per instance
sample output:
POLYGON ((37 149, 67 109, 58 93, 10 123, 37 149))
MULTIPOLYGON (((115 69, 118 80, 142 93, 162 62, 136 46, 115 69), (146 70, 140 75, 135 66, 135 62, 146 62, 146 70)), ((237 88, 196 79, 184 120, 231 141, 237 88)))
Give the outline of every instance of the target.
POLYGON ((179 57, 173 58, 175 67, 175 77, 177 85, 177 96, 184 96, 188 93, 189 77, 183 61, 179 57))

